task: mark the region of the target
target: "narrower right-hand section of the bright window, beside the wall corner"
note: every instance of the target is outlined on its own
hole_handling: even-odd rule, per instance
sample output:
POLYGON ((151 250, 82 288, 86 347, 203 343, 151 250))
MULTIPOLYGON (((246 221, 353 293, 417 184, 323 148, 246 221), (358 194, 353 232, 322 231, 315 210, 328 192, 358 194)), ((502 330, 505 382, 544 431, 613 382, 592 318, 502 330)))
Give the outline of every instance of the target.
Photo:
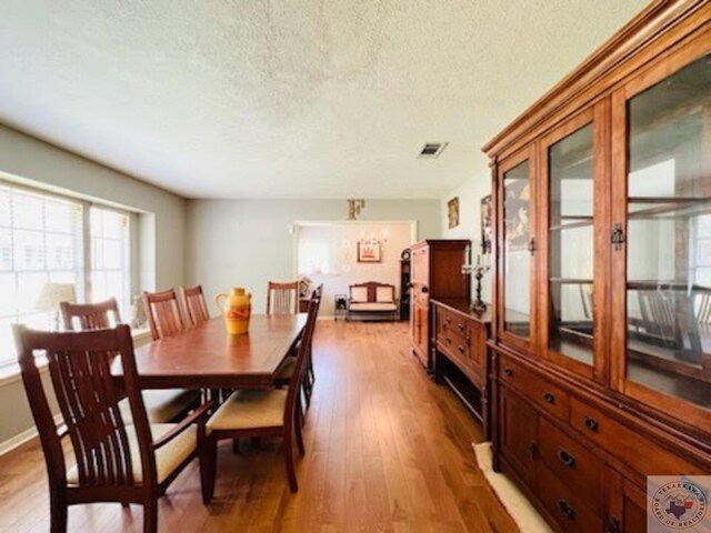
POLYGON ((91 207, 91 301, 119 301, 121 316, 131 309, 130 215, 91 207))

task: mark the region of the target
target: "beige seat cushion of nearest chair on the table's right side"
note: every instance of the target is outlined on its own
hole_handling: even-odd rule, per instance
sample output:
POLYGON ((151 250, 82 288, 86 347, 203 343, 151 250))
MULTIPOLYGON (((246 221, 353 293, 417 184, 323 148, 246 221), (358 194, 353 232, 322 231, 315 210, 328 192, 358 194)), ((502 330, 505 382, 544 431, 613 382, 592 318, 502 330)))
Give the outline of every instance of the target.
POLYGON ((243 389, 233 392, 208 421, 208 433, 214 430, 251 430, 283 425, 287 391, 279 389, 243 389))

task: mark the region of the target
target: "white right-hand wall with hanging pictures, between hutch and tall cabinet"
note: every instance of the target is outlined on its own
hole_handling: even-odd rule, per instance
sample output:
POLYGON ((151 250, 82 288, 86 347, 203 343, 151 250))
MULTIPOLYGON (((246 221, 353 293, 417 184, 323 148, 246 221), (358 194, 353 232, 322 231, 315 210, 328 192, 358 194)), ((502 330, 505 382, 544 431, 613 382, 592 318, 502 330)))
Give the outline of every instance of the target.
MULTIPOLYGON (((443 239, 469 239, 472 244, 481 242, 481 199, 491 194, 491 171, 489 168, 480 169, 471 178, 465 180, 453 191, 442 197, 442 238, 443 239), (459 225, 449 229, 447 202, 454 197, 459 197, 459 225)), ((474 251, 472 259, 475 261, 474 251)), ((484 274, 481 280, 482 300, 491 302, 490 274, 484 274)), ((472 299, 474 296, 475 281, 472 278, 472 299)))

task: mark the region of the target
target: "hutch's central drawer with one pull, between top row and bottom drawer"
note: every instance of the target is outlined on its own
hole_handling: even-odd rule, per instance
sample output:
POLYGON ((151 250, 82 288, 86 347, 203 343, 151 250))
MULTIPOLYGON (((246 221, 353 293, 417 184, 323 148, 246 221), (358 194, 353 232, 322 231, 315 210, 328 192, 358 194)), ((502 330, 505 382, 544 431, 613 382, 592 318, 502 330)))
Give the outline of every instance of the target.
POLYGON ((541 461, 570 487, 572 493, 602 513, 603 461, 542 416, 539 419, 538 435, 541 461))

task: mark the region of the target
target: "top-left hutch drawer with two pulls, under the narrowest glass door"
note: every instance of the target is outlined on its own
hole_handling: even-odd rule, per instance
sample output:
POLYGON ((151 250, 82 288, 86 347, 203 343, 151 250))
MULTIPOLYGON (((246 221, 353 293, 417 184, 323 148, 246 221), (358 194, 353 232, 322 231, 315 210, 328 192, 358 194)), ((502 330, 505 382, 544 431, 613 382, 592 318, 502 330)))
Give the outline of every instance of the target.
POLYGON ((568 420, 570 398, 562 390, 524 369, 511 358, 503 355, 499 368, 499 378, 523 392, 543 411, 568 420))

